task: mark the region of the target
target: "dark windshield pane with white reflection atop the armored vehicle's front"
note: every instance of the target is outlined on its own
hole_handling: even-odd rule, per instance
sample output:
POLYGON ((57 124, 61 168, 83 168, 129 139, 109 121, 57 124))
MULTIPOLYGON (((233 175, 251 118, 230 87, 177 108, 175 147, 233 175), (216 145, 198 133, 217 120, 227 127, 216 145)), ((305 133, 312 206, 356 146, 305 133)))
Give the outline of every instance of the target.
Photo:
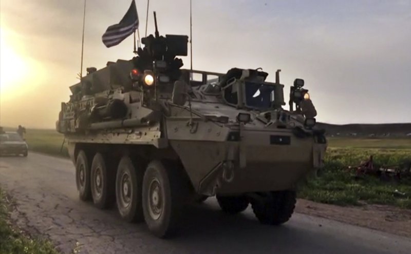
POLYGON ((274 101, 274 86, 246 82, 246 103, 253 108, 271 108, 274 101))

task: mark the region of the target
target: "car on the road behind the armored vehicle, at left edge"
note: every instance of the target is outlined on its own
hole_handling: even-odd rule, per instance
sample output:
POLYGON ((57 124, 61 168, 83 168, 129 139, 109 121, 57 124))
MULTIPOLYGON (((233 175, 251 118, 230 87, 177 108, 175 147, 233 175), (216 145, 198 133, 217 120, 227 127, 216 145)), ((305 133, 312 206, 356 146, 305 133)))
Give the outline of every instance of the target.
POLYGON ((28 145, 17 132, 6 131, 0 134, 0 155, 5 154, 27 156, 28 145))

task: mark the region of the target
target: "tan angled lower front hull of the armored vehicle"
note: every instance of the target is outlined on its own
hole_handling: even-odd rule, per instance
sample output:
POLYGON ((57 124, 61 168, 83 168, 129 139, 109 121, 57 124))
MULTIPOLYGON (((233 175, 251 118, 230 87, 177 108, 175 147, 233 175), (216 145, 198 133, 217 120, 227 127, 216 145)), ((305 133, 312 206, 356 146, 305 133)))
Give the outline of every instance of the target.
POLYGON ((295 187, 323 166, 326 144, 288 130, 241 132, 237 142, 172 141, 198 193, 244 193, 295 187))

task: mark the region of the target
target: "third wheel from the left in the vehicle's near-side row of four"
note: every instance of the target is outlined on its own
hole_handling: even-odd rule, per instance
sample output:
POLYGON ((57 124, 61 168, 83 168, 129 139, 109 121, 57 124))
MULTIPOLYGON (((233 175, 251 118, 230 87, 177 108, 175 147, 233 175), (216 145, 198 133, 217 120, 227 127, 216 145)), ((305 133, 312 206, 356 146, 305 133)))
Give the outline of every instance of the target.
POLYGON ((141 187, 143 167, 124 156, 119 162, 116 176, 116 201, 120 216, 127 222, 143 221, 141 187))

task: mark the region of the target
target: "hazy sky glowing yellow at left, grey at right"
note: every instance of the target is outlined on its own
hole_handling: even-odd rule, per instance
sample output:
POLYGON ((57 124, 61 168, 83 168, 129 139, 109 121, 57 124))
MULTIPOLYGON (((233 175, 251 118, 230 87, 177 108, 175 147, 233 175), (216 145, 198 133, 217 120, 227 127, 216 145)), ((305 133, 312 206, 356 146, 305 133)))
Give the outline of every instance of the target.
MULTIPOLYGON (((0 125, 54 128, 80 72, 84 0, 0 0, 0 125)), ((101 36, 130 0, 87 0, 85 68, 129 59, 101 36)), ((136 0, 140 35, 147 1, 136 0)), ((148 33, 190 32, 189 0, 150 1, 148 33)), ((317 121, 411 122, 411 1, 193 0, 193 67, 263 68, 306 81, 317 121)), ((190 68, 189 57, 183 57, 190 68)), ((288 106, 287 106, 288 108, 288 106)))

